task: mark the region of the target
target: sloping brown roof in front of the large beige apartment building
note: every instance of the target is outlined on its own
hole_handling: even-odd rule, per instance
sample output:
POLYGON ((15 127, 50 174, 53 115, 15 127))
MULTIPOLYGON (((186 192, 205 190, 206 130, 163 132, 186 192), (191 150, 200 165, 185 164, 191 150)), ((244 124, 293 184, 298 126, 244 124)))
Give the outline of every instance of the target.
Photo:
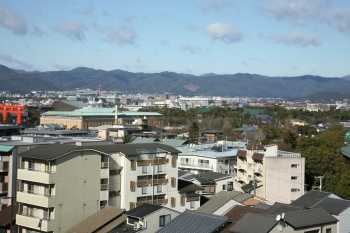
POLYGON ((74 233, 86 233, 94 232, 97 229, 103 227, 113 219, 118 218, 123 214, 124 210, 115 208, 112 206, 106 206, 103 209, 97 211, 96 213, 90 215, 83 221, 79 222, 75 226, 71 227, 67 232, 74 233))

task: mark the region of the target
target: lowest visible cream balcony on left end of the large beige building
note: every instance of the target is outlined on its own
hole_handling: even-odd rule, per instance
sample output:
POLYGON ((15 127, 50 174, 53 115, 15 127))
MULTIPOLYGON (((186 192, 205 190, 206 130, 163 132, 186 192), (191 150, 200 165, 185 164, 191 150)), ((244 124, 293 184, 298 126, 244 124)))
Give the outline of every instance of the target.
POLYGON ((22 227, 28 227, 35 230, 40 230, 44 232, 49 232, 54 230, 55 222, 53 219, 43 219, 39 217, 31 217, 31 216, 25 216, 25 215, 16 215, 16 225, 22 226, 22 227), (40 224, 41 220, 41 224, 40 224))

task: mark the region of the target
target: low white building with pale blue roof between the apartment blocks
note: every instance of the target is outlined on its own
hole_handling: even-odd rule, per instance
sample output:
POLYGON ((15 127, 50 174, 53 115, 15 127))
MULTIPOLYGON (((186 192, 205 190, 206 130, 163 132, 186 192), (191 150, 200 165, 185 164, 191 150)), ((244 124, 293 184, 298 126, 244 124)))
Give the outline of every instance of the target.
POLYGON ((178 167, 194 174, 213 171, 224 174, 233 174, 236 166, 237 149, 205 151, 186 151, 179 154, 178 167))

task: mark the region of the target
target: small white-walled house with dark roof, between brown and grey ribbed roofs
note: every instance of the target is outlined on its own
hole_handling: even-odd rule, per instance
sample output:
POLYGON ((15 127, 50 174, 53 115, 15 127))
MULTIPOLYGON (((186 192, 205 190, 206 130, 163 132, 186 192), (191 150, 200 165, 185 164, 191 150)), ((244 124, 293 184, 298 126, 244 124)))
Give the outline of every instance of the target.
POLYGON ((125 212, 126 220, 108 232, 124 232, 123 229, 128 229, 127 232, 153 233, 179 214, 180 212, 164 206, 143 204, 125 212))

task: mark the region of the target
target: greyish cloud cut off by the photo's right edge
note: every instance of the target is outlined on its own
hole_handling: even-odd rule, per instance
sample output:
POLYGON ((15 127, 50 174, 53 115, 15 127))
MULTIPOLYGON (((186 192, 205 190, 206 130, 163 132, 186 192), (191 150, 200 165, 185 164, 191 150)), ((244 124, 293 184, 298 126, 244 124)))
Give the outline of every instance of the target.
POLYGON ((350 8, 334 9, 326 13, 324 18, 338 31, 350 36, 350 8))

